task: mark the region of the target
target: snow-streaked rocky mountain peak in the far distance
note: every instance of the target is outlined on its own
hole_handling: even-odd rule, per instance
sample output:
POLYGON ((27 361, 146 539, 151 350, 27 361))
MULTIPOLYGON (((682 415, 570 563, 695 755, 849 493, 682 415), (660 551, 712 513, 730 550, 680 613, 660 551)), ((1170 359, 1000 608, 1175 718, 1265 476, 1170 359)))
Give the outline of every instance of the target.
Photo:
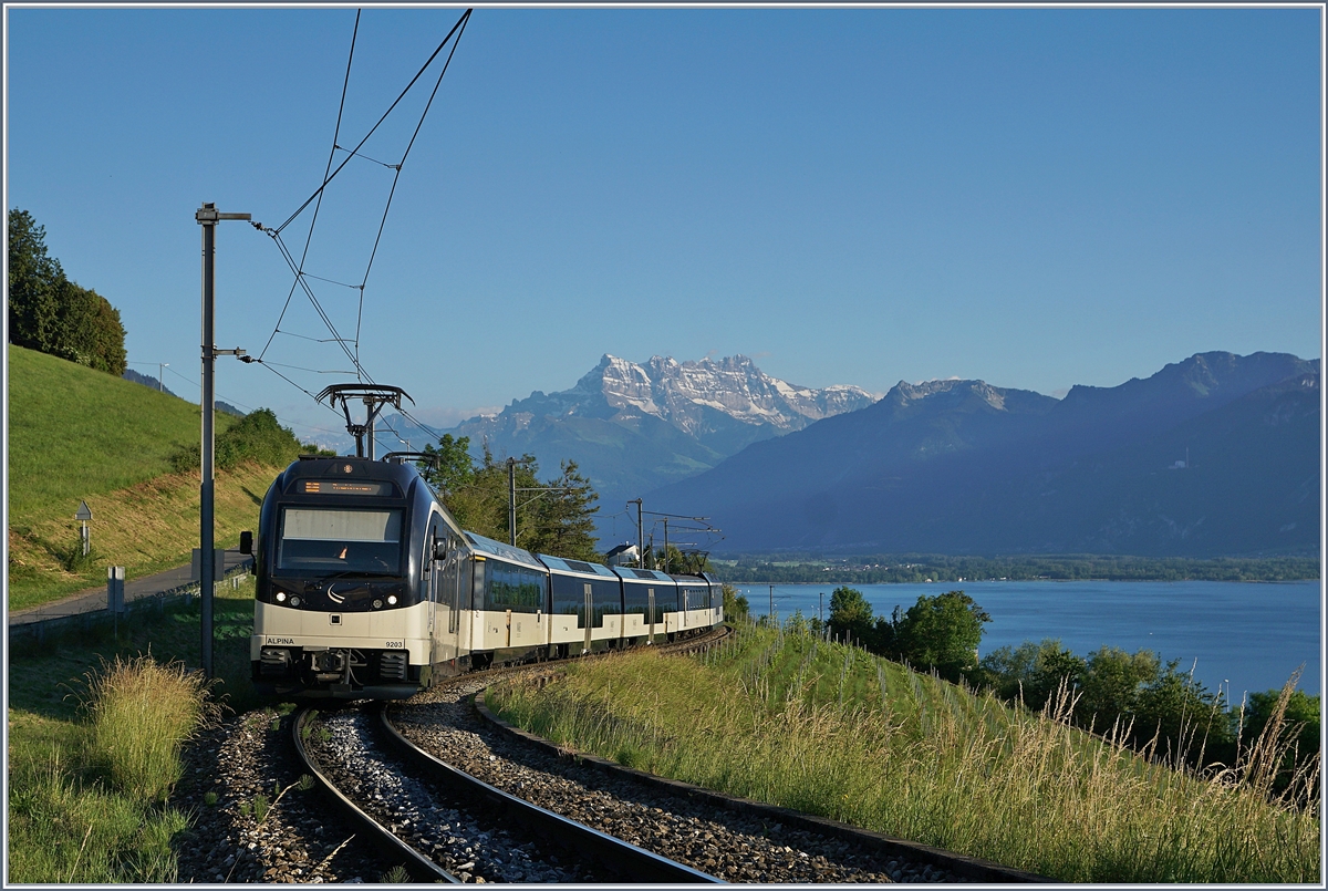
POLYGON ((655 356, 644 365, 604 356, 558 393, 534 392, 499 414, 450 430, 478 453, 531 453, 544 473, 571 458, 618 510, 675 479, 695 475, 740 449, 870 405, 857 386, 811 389, 764 373, 745 356, 699 363, 655 356))

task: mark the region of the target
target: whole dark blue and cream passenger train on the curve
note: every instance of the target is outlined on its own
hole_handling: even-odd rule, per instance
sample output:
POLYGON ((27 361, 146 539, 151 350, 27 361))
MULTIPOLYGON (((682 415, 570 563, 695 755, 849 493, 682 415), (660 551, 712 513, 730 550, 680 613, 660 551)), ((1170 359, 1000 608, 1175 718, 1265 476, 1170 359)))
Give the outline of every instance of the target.
POLYGON ((258 590, 260 694, 408 698, 442 677, 701 633, 724 621, 709 574, 535 554, 458 526, 402 455, 308 457, 243 534, 258 590))

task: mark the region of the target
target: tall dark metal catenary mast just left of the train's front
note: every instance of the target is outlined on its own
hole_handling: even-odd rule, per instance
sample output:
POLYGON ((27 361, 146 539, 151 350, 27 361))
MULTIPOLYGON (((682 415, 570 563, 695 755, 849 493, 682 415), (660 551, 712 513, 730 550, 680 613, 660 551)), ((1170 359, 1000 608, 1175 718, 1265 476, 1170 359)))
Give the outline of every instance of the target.
POLYGON ((215 462, 215 442, 212 429, 212 412, 216 404, 216 385, 214 372, 216 357, 243 356, 243 349, 214 349, 215 332, 215 296, 216 296, 216 223, 223 219, 251 219, 248 214, 222 214, 216 204, 205 203, 194 212, 194 219, 203 227, 203 454, 202 454, 202 483, 199 485, 198 509, 198 592, 202 603, 201 635, 202 635, 202 664, 203 675, 212 677, 212 579, 216 578, 214 566, 214 528, 212 528, 212 471, 215 462))

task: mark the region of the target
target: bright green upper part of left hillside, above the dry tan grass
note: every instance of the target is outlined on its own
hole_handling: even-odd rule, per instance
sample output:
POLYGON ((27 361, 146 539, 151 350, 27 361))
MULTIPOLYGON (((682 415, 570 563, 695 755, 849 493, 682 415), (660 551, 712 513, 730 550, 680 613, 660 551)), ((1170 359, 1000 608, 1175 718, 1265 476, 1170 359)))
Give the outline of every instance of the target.
MULTIPOLYGON (((170 473, 198 406, 105 372, 9 347, 9 522, 73 517, 88 495, 170 473)), ((235 424, 216 413, 216 432, 235 424)))

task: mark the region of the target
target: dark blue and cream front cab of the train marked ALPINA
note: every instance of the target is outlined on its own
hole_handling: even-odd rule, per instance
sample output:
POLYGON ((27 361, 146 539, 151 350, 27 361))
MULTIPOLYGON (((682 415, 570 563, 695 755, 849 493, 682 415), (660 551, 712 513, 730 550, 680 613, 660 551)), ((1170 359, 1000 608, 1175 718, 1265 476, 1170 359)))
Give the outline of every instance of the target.
POLYGON ((430 680, 421 563, 432 498, 413 467, 301 459, 263 501, 250 659, 260 693, 401 698, 430 680))

